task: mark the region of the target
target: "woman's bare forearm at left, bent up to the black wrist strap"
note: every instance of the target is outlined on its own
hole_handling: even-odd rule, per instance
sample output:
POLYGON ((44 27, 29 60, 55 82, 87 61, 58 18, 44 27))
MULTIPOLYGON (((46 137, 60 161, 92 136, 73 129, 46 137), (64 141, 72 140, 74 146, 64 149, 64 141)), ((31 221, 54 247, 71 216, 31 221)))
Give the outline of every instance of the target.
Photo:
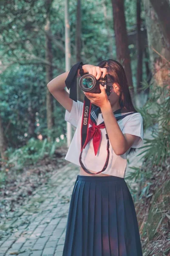
MULTIPOLYGON (((83 68, 84 71, 86 71, 86 70, 85 70, 85 66, 86 66, 86 65, 83 65, 83 66, 82 66, 82 68, 83 68)), ((70 72, 70 71, 67 71, 67 72, 65 72, 65 73, 62 73, 61 75, 59 75, 59 76, 55 77, 54 79, 52 79, 52 80, 47 84, 48 89, 49 89, 50 91, 54 91, 54 90, 64 90, 64 88, 65 88, 65 79, 67 78, 69 72, 70 72)), ((77 71, 77 77, 79 77, 79 76, 80 76, 80 74, 79 74, 79 70, 78 70, 78 71, 77 71)))

